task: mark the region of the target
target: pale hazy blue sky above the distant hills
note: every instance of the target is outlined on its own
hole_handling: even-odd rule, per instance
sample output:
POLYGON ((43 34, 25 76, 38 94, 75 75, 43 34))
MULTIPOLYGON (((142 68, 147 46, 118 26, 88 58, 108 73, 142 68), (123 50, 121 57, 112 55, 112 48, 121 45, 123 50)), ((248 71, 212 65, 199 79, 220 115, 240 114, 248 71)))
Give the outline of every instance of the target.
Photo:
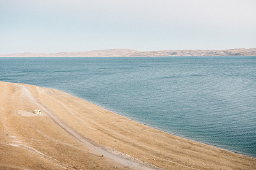
POLYGON ((0 0, 0 54, 256 48, 255 0, 0 0))

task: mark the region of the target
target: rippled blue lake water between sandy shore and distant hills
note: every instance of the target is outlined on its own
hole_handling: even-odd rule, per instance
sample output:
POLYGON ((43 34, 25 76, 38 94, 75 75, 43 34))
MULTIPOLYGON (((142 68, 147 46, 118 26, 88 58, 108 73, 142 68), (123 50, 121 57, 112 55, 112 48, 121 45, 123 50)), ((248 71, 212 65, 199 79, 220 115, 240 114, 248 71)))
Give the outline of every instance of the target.
POLYGON ((256 157, 256 57, 0 58, 0 81, 59 89, 256 157))

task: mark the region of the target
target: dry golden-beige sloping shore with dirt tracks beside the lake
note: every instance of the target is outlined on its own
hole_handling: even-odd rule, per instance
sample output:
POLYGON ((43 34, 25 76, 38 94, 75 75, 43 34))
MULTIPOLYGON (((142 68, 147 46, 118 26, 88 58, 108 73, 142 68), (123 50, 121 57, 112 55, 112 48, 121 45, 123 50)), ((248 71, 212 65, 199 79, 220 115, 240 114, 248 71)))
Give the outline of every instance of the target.
POLYGON ((0 114, 0 169, 256 169, 60 90, 0 81, 0 114))

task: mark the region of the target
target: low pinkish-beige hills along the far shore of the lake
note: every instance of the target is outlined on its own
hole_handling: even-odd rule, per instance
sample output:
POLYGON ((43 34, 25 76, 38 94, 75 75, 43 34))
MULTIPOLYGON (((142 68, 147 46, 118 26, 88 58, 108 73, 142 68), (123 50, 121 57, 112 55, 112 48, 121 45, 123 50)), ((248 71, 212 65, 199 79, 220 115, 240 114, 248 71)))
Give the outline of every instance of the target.
POLYGON ((13 53, 0 57, 160 57, 160 56, 256 56, 256 48, 236 48, 230 50, 160 50, 141 52, 131 49, 94 50, 88 52, 58 53, 13 53))

